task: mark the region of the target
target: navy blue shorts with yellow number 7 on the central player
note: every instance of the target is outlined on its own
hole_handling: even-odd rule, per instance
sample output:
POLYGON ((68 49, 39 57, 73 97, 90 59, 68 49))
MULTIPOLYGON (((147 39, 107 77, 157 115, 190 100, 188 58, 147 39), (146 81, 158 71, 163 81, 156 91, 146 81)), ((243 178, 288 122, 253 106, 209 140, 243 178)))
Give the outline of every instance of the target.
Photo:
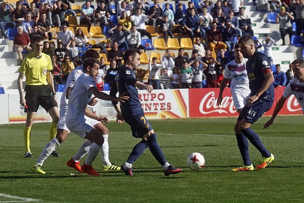
POLYGON ((136 116, 132 116, 130 114, 129 116, 124 116, 123 114, 123 119, 131 126, 132 135, 135 138, 141 138, 143 135, 153 130, 151 124, 143 113, 136 116))

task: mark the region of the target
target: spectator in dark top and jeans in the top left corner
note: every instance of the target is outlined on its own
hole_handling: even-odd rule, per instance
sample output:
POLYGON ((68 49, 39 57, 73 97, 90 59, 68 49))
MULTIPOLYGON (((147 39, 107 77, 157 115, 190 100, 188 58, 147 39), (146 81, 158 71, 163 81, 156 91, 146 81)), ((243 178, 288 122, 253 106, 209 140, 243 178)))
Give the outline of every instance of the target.
POLYGON ((15 28, 16 23, 10 21, 9 15, 14 11, 13 7, 9 3, 0 2, 0 29, 2 37, 5 37, 5 27, 15 28), (9 6, 9 9, 6 9, 6 6, 9 6))

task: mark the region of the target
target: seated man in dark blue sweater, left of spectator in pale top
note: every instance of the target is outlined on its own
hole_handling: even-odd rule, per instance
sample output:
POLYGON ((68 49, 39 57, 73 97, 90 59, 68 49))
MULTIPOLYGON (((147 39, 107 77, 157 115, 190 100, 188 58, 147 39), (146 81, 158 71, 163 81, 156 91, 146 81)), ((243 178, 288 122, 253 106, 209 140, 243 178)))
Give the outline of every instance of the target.
POLYGON ((185 17, 185 28, 187 29, 187 33, 190 35, 191 40, 193 40, 195 34, 199 37, 203 37, 203 32, 199 29, 199 17, 195 15, 195 10, 191 9, 190 11, 191 15, 185 17))

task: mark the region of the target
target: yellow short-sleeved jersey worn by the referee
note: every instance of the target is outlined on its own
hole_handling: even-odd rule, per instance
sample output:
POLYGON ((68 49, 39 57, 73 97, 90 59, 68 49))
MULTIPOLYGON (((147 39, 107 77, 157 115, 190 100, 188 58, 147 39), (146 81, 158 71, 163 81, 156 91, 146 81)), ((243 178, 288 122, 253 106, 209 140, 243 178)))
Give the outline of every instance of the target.
POLYGON ((48 85, 47 71, 52 69, 52 61, 49 55, 41 53, 41 57, 36 58, 32 52, 23 59, 18 71, 25 74, 26 85, 48 85))

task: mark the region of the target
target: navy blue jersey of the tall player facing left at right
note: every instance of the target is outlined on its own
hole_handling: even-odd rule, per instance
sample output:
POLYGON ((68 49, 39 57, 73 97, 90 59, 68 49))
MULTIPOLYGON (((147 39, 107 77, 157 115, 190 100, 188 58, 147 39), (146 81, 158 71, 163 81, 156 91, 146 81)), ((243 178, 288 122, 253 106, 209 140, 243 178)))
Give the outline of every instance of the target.
MULTIPOLYGON (((271 64, 269 58, 260 52, 254 52, 253 56, 246 63, 247 75, 249 79, 250 96, 253 96, 263 86, 265 81, 264 74, 271 71, 271 64)), ((273 84, 271 84, 259 99, 273 101, 275 99, 275 92, 273 84)))

